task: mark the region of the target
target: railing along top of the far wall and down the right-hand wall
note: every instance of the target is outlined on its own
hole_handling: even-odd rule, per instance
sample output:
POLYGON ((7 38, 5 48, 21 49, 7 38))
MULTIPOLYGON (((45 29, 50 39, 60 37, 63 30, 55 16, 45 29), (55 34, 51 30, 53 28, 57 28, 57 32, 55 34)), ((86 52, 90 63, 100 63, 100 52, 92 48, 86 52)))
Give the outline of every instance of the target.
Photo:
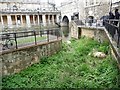
POLYGON ((112 41, 116 43, 117 48, 120 48, 120 21, 116 19, 105 19, 105 20, 76 20, 76 25, 85 27, 105 27, 109 35, 112 37, 112 41))

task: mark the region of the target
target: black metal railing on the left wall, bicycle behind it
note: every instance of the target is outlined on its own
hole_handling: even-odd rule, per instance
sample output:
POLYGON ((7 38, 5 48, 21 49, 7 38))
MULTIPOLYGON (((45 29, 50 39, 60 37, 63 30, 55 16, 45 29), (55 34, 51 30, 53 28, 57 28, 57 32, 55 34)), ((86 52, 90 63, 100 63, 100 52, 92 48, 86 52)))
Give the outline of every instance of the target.
POLYGON ((58 40, 59 37, 61 37, 59 28, 53 30, 33 30, 26 32, 0 34, 3 51, 37 45, 43 42, 50 42, 53 40, 58 40))

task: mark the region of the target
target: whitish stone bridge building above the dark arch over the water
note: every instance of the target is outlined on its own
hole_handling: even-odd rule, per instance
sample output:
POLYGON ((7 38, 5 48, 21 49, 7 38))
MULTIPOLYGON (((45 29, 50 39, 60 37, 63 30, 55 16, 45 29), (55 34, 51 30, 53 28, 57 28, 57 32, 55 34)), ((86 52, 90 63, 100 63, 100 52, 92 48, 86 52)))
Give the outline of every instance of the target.
POLYGON ((61 20, 64 16, 67 16, 69 21, 73 19, 73 16, 77 16, 78 19, 84 18, 84 0, 67 0, 61 3, 61 20))

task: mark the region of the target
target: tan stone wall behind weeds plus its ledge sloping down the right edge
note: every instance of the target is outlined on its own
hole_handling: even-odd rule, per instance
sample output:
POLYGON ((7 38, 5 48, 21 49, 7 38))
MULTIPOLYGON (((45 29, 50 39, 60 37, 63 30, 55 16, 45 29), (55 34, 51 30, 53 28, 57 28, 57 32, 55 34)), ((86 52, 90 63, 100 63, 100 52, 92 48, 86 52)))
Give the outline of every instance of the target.
POLYGON ((80 37, 90 37, 94 38, 98 42, 109 42, 110 46, 115 54, 115 59, 120 65, 120 54, 119 49, 116 48, 114 41, 104 27, 87 27, 87 26, 76 26, 71 24, 71 37, 79 39, 80 37), (77 29, 76 29, 77 28, 77 29))

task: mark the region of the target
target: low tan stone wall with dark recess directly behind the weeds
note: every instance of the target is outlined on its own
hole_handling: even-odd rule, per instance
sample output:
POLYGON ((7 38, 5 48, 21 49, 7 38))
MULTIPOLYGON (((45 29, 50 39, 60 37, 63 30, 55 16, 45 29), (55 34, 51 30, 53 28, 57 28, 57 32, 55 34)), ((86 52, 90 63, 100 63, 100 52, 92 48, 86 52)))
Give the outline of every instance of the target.
POLYGON ((71 37, 79 39, 81 36, 94 38, 99 42, 108 41, 104 28, 77 26, 74 22, 71 24, 71 37))

